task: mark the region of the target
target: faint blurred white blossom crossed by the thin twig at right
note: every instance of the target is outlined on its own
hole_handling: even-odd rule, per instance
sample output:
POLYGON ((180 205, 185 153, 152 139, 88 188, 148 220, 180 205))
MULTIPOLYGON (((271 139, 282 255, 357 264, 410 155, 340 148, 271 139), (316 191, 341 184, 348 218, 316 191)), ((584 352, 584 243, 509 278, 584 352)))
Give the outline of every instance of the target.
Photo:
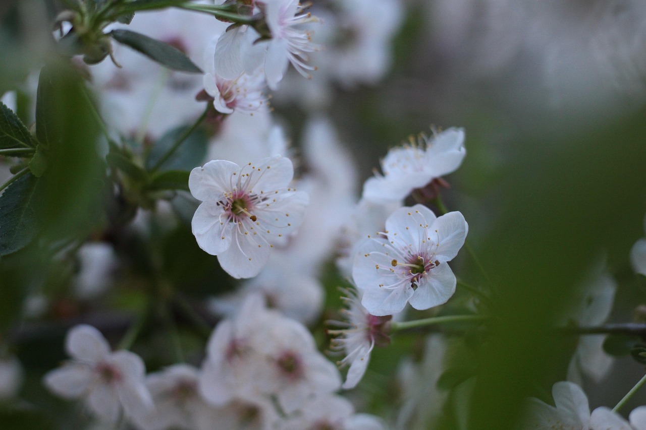
MULTIPOLYGON (((605 267, 605 261, 599 267, 605 267)), ((574 320, 583 327, 594 327, 605 323, 612 311, 614 293, 617 283, 607 273, 595 274, 581 285, 574 298, 575 309, 570 314, 570 322, 574 320)), ((567 323, 567 321, 565 322, 567 323)), ((581 385, 583 375, 594 382, 599 382, 610 371, 614 358, 603 350, 604 334, 579 336, 579 343, 570 365, 567 379, 581 385)))

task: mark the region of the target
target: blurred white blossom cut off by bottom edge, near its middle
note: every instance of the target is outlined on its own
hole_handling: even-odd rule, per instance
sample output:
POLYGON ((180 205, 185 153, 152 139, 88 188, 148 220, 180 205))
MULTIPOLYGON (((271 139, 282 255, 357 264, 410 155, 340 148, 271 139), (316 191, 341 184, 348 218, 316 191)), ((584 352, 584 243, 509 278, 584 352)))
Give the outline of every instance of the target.
POLYGON ((383 430, 380 420, 368 414, 355 414, 352 404, 341 396, 320 396, 307 402, 302 413, 288 418, 282 430, 383 430))

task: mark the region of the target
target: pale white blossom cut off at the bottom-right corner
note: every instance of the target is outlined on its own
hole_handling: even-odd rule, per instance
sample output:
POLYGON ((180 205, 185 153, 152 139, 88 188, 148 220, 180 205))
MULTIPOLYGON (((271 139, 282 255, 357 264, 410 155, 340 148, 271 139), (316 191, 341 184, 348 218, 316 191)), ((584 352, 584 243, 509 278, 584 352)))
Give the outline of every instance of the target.
POLYGON ((646 407, 638 407, 630 414, 630 424, 621 415, 605 406, 590 413, 588 398, 572 382, 557 382, 552 387, 554 406, 530 398, 522 429, 573 429, 573 430, 643 430, 646 407))

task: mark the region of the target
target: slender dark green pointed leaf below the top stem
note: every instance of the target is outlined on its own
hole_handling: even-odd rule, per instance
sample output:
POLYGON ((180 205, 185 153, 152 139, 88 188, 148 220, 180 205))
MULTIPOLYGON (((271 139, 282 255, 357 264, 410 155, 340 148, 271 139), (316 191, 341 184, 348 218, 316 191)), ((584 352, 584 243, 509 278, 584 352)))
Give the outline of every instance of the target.
POLYGON ((130 46, 130 48, 141 52, 141 54, 171 70, 187 73, 203 73, 189 57, 168 43, 123 29, 112 30, 110 36, 114 40, 123 43, 123 45, 130 46))

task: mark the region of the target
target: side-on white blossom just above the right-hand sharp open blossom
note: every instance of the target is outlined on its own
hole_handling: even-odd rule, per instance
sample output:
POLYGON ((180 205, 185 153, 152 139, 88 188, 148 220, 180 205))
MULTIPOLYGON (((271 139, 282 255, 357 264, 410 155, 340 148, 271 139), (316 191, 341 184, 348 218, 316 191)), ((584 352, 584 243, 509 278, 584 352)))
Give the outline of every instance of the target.
POLYGON ((433 179, 460 167, 464 149, 464 130, 448 128, 427 138, 423 134, 411 145, 393 148, 381 161, 384 176, 369 178, 363 198, 372 201, 401 201, 412 190, 422 188, 433 179))

